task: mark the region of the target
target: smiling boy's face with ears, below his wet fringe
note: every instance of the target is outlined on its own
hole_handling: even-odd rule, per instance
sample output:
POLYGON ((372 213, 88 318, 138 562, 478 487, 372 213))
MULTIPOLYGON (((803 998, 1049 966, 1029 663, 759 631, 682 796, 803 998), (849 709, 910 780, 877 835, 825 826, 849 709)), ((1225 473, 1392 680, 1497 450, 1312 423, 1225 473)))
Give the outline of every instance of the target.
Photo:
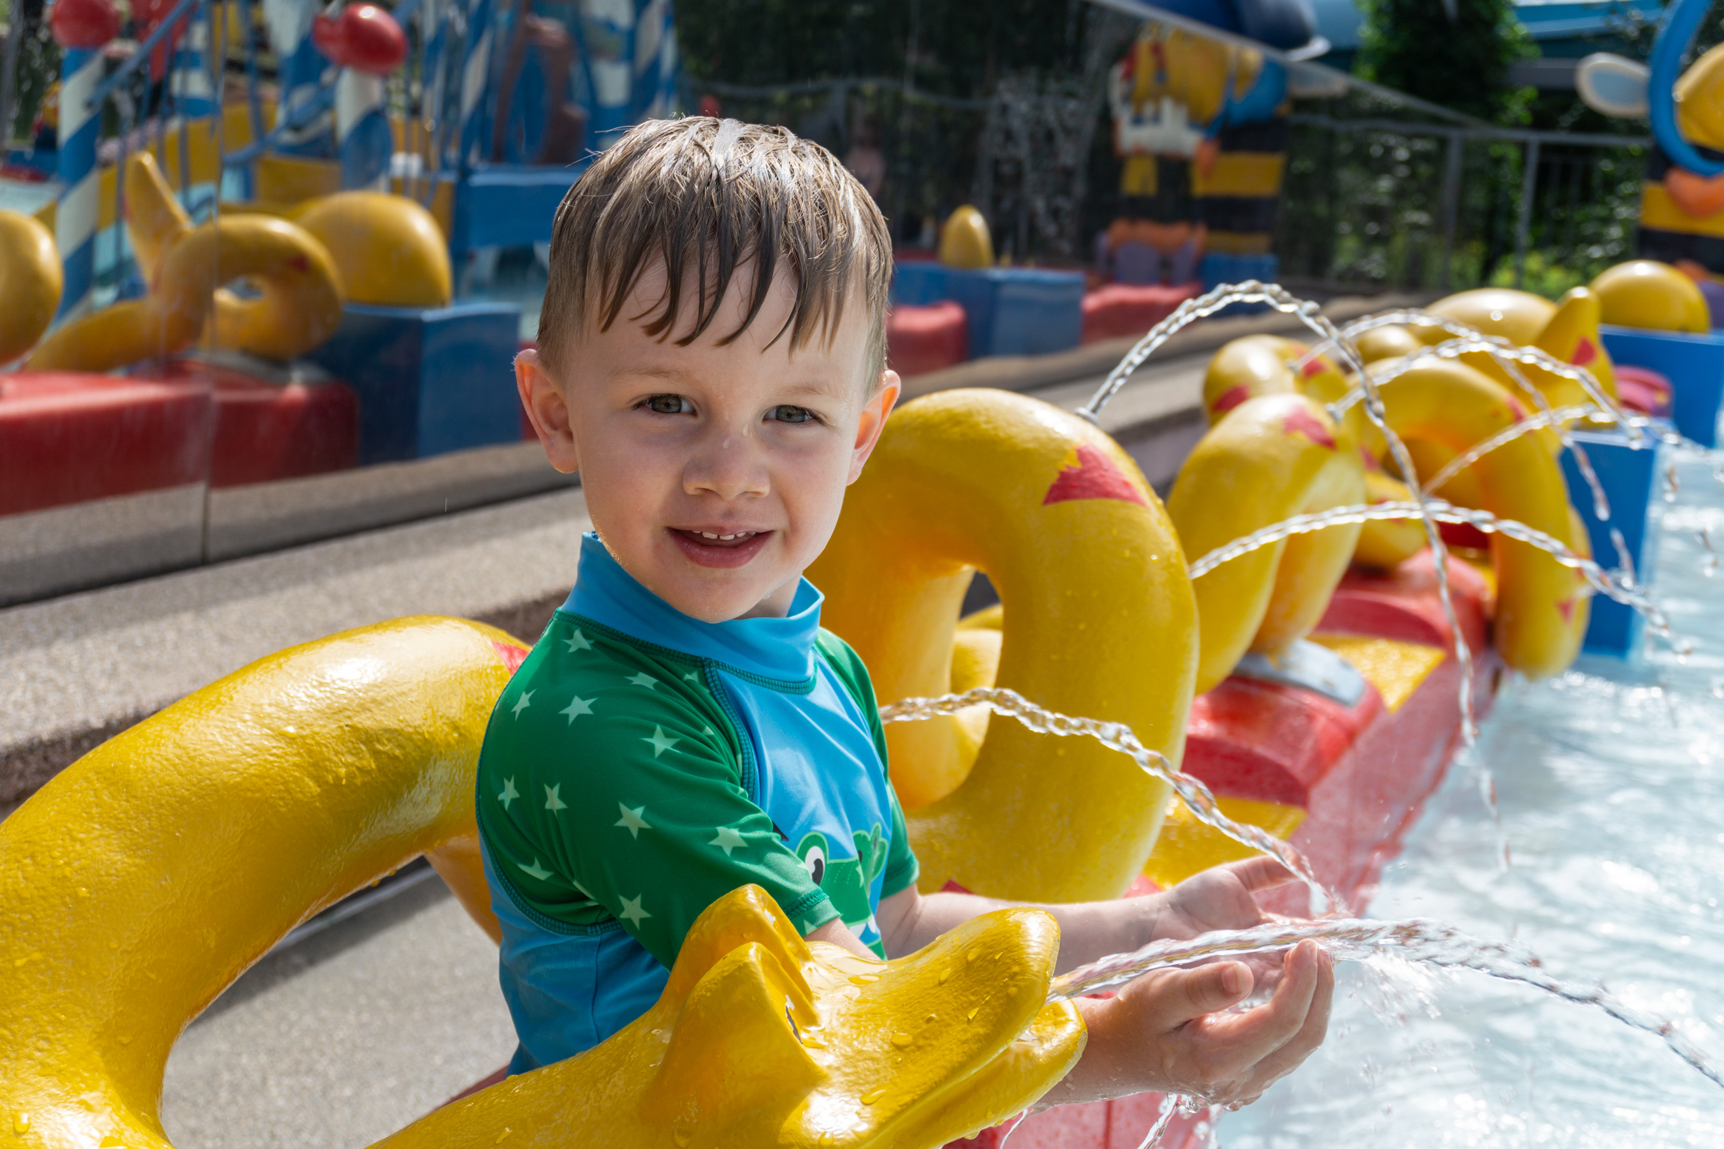
POLYGON ((552 465, 581 472, 593 527, 641 586, 705 622, 783 617, 874 450, 898 376, 879 388, 862 379, 869 315, 855 296, 829 343, 791 351, 788 336, 767 346, 795 300, 790 276, 726 346, 746 315, 752 265, 688 346, 672 339, 693 326, 691 284, 671 338, 633 319, 655 315, 662 291, 660 264, 610 331, 581 332, 562 379, 522 353, 521 398, 552 465))

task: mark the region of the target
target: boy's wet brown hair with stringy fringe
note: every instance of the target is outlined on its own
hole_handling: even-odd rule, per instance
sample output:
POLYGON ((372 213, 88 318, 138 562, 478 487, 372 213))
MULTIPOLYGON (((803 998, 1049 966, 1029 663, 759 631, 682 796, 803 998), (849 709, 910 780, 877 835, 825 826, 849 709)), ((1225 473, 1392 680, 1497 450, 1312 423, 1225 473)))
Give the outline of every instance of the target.
POLYGON ((821 145, 788 127, 733 119, 646 121, 569 188, 550 238, 540 355, 562 376, 583 327, 609 331, 619 317, 688 346, 712 326, 731 279, 750 262, 748 314, 719 343, 748 329, 781 274, 795 277, 796 300, 772 343, 788 336, 791 348, 833 338, 850 291, 860 286, 872 391, 886 365, 886 220, 821 145), (660 258, 664 296, 638 315, 622 315, 629 291, 660 258), (690 269, 698 274, 695 300, 684 300, 690 269))

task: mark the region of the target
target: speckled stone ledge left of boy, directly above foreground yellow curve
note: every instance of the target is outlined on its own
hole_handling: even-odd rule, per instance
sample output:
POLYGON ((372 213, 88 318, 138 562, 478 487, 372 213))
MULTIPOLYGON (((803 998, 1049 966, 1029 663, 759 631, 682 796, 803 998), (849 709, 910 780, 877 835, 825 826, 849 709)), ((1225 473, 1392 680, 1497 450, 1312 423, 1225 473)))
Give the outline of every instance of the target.
POLYGON ((534 639, 574 582, 581 491, 0 610, 0 815, 103 739, 272 651, 402 615, 534 639))

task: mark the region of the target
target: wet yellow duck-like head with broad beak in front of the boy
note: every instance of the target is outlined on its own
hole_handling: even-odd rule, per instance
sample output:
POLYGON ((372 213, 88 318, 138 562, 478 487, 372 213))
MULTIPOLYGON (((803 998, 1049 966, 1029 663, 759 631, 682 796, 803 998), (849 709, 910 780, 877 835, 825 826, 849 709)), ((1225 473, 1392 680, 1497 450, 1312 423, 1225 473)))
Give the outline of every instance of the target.
POLYGON ((976 918, 879 963, 803 942, 757 885, 695 922, 659 1003, 610 1040, 409 1125, 390 1149, 943 1146, 1034 1102, 1084 1028, 1046 1003, 1059 927, 976 918))

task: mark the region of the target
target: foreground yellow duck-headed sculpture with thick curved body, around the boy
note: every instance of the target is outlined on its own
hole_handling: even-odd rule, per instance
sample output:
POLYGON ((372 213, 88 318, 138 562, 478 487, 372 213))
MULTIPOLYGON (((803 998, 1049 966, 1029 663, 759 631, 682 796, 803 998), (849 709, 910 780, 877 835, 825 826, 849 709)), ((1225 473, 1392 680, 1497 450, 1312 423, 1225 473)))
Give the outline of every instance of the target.
MULTIPOLYGON (((402 618, 271 655, 105 742, 0 823, 0 1116, 28 1149, 167 1149, 174 1039, 293 925, 421 853, 495 935, 472 779, 522 649, 402 618)), ((755 887, 660 1001, 569 1061, 381 1144, 922 1146, 1031 1104, 1083 1051, 1036 910, 878 963, 755 887)))

